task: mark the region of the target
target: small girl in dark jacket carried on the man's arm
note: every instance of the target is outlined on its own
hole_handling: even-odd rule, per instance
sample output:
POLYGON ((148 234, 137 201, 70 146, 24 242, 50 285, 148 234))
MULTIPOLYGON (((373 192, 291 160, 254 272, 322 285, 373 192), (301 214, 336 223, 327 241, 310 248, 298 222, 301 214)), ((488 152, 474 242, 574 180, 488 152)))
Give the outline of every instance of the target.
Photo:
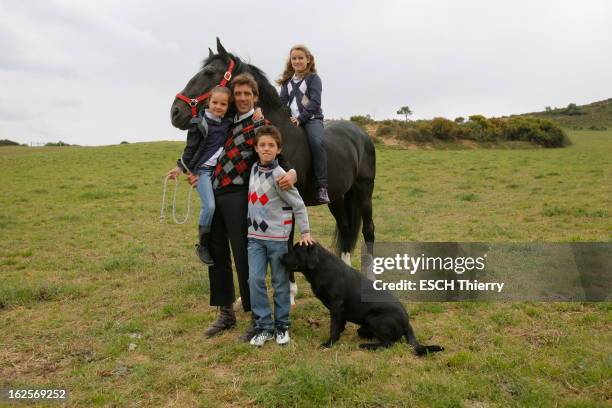
POLYGON ((196 244, 196 252, 200 260, 207 265, 213 264, 208 249, 210 226, 215 212, 211 176, 231 125, 231 121, 224 118, 231 95, 230 90, 222 86, 212 89, 208 108, 201 110, 198 117, 191 120, 185 150, 181 158, 177 160, 176 167, 167 174, 171 179, 176 178, 182 172, 198 176, 196 188, 202 201, 202 207, 198 226, 199 244, 196 244))

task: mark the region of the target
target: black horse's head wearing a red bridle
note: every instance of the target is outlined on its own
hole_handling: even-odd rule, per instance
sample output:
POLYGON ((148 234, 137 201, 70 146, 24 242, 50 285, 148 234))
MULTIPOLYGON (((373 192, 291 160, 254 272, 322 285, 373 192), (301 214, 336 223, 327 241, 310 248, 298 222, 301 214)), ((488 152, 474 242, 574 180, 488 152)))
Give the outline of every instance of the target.
MULTIPOLYGON (((179 95, 184 95, 188 99, 196 99, 206 94, 216 85, 219 85, 223 81, 224 76, 226 79, 228 78, 226 73, 231 61, 234 61, 236 64, 233 67, 232 76, 241 73, 244 69, 244 64, 227 52, 219 38, 217 38, 217 53, 215 54, 210 48, 208 49, 208 58, 202 63, 202 68, 187 82, 187 85, 179 92, 179 95)), ((198 104, 197 110, 200 110, 206 104, 206 99, 202 100, 198 104)), ((191 106, 186 101, 179 99, 177 95, 170 108, 172 125, 181 130, 186 130, 191 117, 191 106)))

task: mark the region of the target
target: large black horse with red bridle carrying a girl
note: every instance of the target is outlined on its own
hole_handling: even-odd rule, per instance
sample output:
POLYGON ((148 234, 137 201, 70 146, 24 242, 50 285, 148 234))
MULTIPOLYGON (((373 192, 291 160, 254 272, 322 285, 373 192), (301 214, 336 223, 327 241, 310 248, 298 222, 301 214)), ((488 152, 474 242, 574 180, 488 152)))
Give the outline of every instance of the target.
MULTIPOLYGON (((310 162, 310 150, 306 134, 301 127, 291 124, 276 89, 257 67, 241 61, 228 53, 217 38, 217 53, 209 48, 209 56, 202 69, 189 80, 182 95, 197 98, 219 84, 230 61, 234 61, 233 76, 248 72, 259 86, 258 106, 266 119, 277 126, 283 135, 283 154, 298 174, 297 188, 306 205, 318 205, 315 200, 315 179, 310 162)), ((204 103, 198 105, 204 106, 204 103)), ((228 112, 231 114, 232 112, 228 112)), ((185 101, 175 98, 170 109, 172 125, 186 130, 192 111, 185 101)), ((325 125, 325 149, 327 151, 329 209, 336 219, 335 246, 342 258, 350 264, 350 252, 354 249, 363 221, 363 237, 368 253, 374 245, 372 221, 372 192, 376 174, 374 144, 368 135, 349 121, 333 121, 325 125)))

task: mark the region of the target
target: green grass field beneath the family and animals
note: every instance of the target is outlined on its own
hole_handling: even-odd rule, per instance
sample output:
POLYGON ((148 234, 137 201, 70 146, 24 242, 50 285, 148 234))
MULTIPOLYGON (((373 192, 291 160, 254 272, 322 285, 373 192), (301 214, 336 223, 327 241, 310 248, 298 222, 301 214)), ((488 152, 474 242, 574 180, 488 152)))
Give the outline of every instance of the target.
MULTIPOLYGON (((377 240, 609 242, 612 131, 569 135, 563 149, 379 147, 377 240)), ((409 303, 445 352, 361 351, 350 324, 319 350, 329 319, 298 276, 288 347, 238 342, 243 313, 204 339, 216 311, 196 217, 158 222, 181 148, 0 148, 0 388, 63 387, 79 407, 612 403, 610 303, 409 303)), ((311 223, 329 245, 326 208, 311 223)))

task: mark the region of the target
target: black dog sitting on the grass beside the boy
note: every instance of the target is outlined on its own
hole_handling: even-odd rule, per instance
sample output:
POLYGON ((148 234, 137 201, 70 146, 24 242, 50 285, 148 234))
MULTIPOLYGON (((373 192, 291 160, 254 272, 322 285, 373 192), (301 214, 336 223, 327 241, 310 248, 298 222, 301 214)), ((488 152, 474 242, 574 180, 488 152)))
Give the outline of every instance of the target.
POLYGON ((441 346, 420 344, 408 322, 408 313, 392 293, 374 290, 371 280, 319 244, 296 244, 282 262, 287 270, 302 272, 315 296, 329 309, 330 336, 321 347, 331 347, 337 342, 348 321, 361 326, 357 330, 361 338, 379 341, 360 344, 360 348, 389 347, 406 337, 419 356, 444 350, 441 346), (376 301, 364 302, 362 294, 376 301))

